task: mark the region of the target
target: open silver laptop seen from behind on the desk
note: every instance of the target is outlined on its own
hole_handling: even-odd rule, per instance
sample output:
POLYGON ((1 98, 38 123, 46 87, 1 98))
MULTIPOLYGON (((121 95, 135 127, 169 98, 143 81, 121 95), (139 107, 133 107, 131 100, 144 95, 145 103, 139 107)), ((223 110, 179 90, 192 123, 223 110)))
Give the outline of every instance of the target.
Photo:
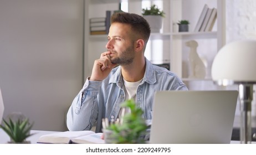
POLYGON ((150 143, 230 143, 238 91, 157 91, 150 143))

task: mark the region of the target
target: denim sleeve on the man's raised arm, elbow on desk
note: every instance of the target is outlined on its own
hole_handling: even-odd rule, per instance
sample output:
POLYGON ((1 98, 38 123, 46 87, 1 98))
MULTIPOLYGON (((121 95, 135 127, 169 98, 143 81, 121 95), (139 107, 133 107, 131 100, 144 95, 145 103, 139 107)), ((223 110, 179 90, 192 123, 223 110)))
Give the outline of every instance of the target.
POLYGON ((66 116, 69 131, 90 130, 98 117, 97 95, 101 81, 85 81, 83 89, 76 95, 66 116))

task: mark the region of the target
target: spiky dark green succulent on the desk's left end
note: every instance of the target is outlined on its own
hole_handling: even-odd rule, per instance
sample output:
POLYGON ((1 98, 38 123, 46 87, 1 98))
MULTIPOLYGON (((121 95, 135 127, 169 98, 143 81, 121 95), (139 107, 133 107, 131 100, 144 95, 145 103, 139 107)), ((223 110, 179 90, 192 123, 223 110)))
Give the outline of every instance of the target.
POLYGON ((29 123, 28 118, 18 119, 17 121, 9 118, 9 122, 3 119, 3 125, 0 125, 11 139, 8 143, 30 143, 26 141, 26 138, 33 135, 30 133, 32 126, 33 123, 29 123))

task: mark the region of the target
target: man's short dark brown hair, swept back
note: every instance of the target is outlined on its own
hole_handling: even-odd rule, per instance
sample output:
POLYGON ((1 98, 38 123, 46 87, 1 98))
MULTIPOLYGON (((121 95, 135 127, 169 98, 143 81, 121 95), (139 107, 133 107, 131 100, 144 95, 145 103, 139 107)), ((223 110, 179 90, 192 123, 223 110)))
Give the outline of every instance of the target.
POLYGON ((147 20, 135 13, 117 12, 111 16, 112 23, 124 23, 131 25, 132 31, 136 34, 140 34, 142 39, 147 43, 150 37, 150 25, 147 20))

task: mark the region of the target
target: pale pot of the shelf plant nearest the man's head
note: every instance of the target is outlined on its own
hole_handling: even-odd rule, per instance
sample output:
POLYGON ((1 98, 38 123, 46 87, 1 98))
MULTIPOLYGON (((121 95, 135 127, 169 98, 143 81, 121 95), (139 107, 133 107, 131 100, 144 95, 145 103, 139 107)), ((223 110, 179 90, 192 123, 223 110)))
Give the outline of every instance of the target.
POLYGON ((160 29, 162 28, 162 23, 163 23, 163 17, 153 16, 153 15, 146 15, 143 17, 149 23, 152 33, 160 33, 160 29))

